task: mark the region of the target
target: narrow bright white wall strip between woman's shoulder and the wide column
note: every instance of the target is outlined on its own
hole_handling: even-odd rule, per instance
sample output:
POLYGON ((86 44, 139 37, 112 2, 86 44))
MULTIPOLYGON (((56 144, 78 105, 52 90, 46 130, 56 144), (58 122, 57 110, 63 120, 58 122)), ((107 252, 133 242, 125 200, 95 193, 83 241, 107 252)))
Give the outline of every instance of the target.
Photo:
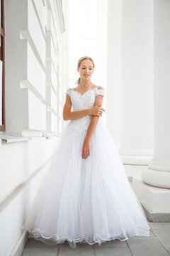
POLYGON ((120 0, 108 0, 107 124, 115 144, 121 143, 121 17, 120 0))

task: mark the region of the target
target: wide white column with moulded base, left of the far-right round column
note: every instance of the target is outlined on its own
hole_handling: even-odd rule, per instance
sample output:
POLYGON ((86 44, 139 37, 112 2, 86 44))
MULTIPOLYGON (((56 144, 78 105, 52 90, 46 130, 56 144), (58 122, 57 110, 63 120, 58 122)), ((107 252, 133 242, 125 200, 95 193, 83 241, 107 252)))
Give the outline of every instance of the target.
POLYGON ((124 164, 153 155, 152 0, 122 0, 121 148, 124 164))

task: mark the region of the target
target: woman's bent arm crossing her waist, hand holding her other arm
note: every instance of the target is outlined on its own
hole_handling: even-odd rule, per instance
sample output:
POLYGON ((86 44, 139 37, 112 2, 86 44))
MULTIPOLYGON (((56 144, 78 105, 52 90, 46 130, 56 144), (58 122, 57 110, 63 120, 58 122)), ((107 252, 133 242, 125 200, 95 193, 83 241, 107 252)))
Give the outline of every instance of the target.
POLYGON ((69 95, 66 95, 66 102, 63 108, 64 121, 85 117, 87 114, 92 114, 96 117, 100 117, 103 111, 105 111, 102 107, 99 107, 98 105, 86 110, 71 111, 71 109, 72 109, 72 101, 69 95))

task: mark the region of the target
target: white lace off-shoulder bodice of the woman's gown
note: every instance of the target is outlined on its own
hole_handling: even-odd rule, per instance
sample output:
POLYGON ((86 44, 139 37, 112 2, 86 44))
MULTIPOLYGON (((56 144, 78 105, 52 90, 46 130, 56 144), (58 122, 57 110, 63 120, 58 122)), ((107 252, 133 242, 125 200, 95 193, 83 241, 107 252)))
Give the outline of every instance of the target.
MULTIPOLYGON (((97 95, 105 95, 104 89, 99 89, 98 86, 94 89, 87 90, 81 95, 80 92, 74 89, 67 89, 67 95, 71 98, 73 111, 86 110, 94 106, 97 95)), ((72 129, 74 129, 74 136, 78 136, 84 130, 89 128, 91 122, 91 114, 81 117, 79 119, 70 120, 72 129)))

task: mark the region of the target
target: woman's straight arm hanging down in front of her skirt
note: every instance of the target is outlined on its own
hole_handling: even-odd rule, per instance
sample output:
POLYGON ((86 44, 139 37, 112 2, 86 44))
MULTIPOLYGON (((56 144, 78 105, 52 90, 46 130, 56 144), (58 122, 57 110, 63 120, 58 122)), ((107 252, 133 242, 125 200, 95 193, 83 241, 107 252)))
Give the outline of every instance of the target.
MULTIPOLYGON (((98 105, 98 106, 101 107, 102 102, 103 102, 103 95, 97 95, 96 100, 94 102, 94 106, 98 105)), ((82 156, 83 159, 86 159, 90 155, 90 140, 91 140, 91 137, 94 134, 94 131, 96 129, 96 125, 98 123, 98 118, 99 117, 96 117, 96 116, 91 117, 91 122, 89 124, 89 129, 86 133, 86 138, 84 139, 84 144, 83 144, 83 148, 82 148, 81 156, 82 156)))

